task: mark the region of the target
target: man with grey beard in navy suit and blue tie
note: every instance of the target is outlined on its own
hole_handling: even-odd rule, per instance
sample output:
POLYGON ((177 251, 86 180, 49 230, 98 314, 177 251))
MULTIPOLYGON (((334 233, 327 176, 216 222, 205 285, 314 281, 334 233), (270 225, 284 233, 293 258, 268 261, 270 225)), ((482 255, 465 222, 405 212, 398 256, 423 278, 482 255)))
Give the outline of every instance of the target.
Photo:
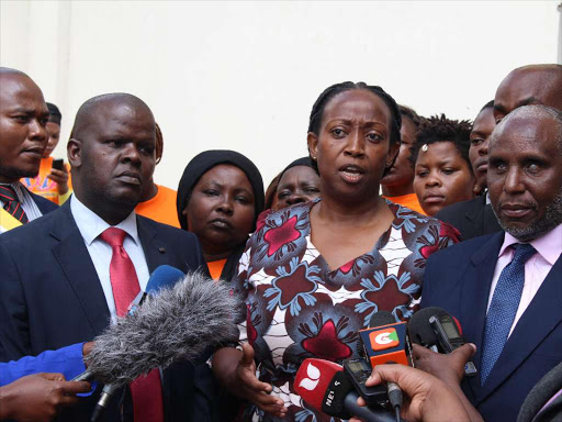
MULTIPOLYGON (((432 255, 422 308, 449 311, 476 345, 479 376, 462 388, 483 419, 515 421, 531 387, 562 362, 562 112, 522 106, 507 114, 487 171, 504 232, 432 255)), ((434 375, 461 381, 462 368, 439 366, 434 375)))

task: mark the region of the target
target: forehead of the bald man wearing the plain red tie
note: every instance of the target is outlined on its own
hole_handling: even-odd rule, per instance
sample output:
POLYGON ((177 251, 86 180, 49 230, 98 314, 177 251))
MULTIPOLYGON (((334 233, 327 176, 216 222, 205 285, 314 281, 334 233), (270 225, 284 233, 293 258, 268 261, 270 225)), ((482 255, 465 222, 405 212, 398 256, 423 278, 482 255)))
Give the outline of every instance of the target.
POLYGON ((92 110, 89 129, 101 137, 126 136, 156 140, 153 114, 142 104, 99 104, 92 110))

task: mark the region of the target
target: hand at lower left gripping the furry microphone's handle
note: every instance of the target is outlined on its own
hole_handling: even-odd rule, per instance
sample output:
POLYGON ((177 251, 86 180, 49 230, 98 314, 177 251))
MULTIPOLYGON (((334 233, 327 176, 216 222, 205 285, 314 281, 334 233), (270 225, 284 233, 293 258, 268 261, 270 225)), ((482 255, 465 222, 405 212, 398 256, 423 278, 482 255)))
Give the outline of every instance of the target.
POLYGON ((0 420, 50 421, 61 408, 78 401, 76 393, 88 391, 89 382, 65 381, 63 374, 27 375, 0 388, 0 420))

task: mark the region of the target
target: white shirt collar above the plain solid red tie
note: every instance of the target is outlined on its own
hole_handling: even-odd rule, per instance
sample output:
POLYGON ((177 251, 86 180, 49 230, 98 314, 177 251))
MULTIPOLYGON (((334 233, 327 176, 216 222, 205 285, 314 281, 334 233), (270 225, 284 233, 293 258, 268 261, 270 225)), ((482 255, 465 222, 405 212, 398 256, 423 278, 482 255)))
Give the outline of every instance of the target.
MULTIPOLYGON (((106 229, 111 227, 111 225, 101 216, 80 202, 78 198, 76 198, 76 195, 70 197, 70 211, 72 212, 76 225, 78 225, 78 230, 88 246, 90 246, 92 242, 106 229)), ((127 218, 117 225, 113 225, 113 227, 123 230, 131 236, 136 245, 140 245, 135 211, 131 212, 131 214, 128 214, 127 218)))

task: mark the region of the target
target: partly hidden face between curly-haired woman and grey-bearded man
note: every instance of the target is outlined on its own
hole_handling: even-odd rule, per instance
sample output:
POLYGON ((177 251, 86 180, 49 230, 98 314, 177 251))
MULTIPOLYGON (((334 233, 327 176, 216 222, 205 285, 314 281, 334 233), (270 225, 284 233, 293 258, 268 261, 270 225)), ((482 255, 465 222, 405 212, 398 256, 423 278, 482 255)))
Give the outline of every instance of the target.
POLYGON ((477 115, 470 133, 469 158, 472 164, 472 171, 474 171, 476 177, 479 190, 486 187, 487 144, 490 134, 495 126, 494 109, 488 107, 477 115))

